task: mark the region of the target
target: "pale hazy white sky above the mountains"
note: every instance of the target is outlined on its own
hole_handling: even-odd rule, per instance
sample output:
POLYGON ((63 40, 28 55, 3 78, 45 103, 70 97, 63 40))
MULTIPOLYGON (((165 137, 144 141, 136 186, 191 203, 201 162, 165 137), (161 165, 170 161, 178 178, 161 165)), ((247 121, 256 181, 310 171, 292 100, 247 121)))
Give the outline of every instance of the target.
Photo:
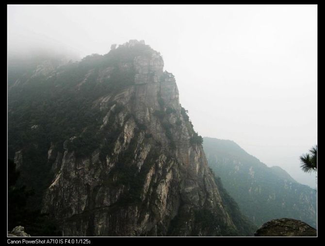
POLYGON ((202 136, 230 139, 315 186, 317 5, 8 5, 8 51, 105 54, 144 39, 202 136))

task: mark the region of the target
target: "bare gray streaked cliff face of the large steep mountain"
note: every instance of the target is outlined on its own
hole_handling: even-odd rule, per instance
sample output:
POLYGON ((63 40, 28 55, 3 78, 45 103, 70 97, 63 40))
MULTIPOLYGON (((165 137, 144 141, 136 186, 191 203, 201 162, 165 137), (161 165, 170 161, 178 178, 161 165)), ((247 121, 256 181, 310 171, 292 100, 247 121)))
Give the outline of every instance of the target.
POLYGON ((153 51, 120 66, 134 68, 134 84, 94 101, 105 115, 98 148, 81 158, 68 147, 73 140, 64 153, 51 147, 43 212, 64 236, 236 235, 162 57, 153 51))

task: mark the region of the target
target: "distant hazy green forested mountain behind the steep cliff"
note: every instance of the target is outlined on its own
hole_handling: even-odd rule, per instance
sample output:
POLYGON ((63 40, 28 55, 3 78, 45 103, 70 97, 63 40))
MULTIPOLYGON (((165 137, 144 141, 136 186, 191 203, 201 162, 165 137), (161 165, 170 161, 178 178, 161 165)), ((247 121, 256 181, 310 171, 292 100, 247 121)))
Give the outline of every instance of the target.
POLYGON ((233 141, 205 137, 203 147, 212 170, 257 226, 288 217, 316 228, 316 192, 309 186, 278 166, 266 166, 233 141))

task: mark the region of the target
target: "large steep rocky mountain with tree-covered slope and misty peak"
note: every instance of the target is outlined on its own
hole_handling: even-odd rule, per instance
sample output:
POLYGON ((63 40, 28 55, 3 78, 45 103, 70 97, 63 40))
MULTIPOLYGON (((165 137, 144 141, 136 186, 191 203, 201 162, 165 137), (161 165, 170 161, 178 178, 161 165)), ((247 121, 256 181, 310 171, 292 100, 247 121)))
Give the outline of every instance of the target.
MULTIPOLYGON (((8 67, 8 156, 64 236, 253 235, 159 52, 130 40, 80 62, 8 67)), ((24 225, 22 225, 24 226, 24 225)))

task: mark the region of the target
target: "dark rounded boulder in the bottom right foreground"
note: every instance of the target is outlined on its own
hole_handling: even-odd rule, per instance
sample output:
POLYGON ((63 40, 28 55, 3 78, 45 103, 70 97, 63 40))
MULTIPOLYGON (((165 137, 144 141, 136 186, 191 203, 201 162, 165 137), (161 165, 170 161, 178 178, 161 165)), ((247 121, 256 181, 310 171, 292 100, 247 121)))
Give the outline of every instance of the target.
POLYGON ((317 230, 300 220, 282 218, 266 222, 255 232, 255 236, 315 237, 317 230))

